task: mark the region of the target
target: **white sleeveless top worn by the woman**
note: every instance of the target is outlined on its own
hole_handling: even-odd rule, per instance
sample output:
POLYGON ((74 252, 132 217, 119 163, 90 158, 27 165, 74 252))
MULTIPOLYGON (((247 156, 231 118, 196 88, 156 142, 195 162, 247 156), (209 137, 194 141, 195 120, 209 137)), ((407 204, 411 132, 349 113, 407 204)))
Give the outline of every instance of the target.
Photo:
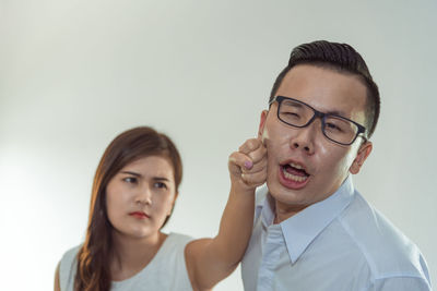
MULTIPOLYGON (((137 275, 123 281, 113 281, 111 291, 142 290, 189 290, 192 291, 185 263, 185 246, 192 238, 169 233, 152 260, 137 275)), ((59 266, 61 291, 73 291, 76 254, 81 245, 69 250, 59 266)))

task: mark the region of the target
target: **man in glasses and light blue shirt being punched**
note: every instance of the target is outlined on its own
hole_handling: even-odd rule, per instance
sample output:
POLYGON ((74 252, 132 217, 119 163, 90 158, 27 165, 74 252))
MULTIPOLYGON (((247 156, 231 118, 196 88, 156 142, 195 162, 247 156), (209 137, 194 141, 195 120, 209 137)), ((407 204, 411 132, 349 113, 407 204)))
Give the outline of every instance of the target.
POLYGON ((418 248, 354 190, 379 93, 345 44, 296 47, 261 113, 267 187, 257 192, 245 290, 430 290, 418 248))

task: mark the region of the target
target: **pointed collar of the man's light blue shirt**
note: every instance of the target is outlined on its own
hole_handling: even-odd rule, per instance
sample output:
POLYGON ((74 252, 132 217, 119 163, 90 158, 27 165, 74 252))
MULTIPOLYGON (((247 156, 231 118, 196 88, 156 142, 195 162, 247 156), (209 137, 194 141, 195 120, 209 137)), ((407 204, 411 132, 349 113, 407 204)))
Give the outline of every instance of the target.
MULTIPOLYGON (((267 187, 262 192, 265 193, 265 198, 257 201, 257 216, 261 215, 262 210, 262 222, 269 227, 274 219, 274 208, 271 202, 273 198, 267 187)), ((292 264, 300 257, 314 239, 346 208, 353 195, 354 185, 349 175, 334 194, 280 223, 292 264)))

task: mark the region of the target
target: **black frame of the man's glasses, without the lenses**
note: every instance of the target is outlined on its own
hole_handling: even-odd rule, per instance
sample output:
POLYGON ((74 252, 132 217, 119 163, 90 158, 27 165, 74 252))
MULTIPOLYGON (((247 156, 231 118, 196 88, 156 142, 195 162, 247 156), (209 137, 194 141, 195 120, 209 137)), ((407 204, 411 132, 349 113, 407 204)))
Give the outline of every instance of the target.
POLYGON ((320 120, 321 120, 321 132, 323 133, 323 135, 324 135, 328 140, 330 140, 330 141, 332 141, 332 142, 334 142, 334 143, 336 143, 336 144, 345 145, 345 146, 352 145, 352 144, 355 142, 356 137, 358 137, 358 136, 363 137, 363 140, 364 140, 365 142, 367 142, 367 137, 365 136, 366 128, 363 126, 362 124, 359 124, 359 123, 353 121, 353 120, 350 120, 350 119, 347 119, 347 118, 344 118, 344 117, 338 116, 338 114, 323 113, 323 112, 321 112, 321 111, 319 111, 319 110, 312 108, 310 105, 307 105, 306 102, 296 100, 296 99, 294 99, 294 98, 285 97, 285 96, 275 96, 275 97, 269 102, 269 107, 270 107, 274 101, 277 101, 277 110, 276 110, 277 119, 281 120, 281 122, 283 122, 283 123, 285 123, 285 124, 287 124, 287 125, 291 125, 291 126, 297 128, 297 129, 303 129, 303 128, 306 128, 306 126, 308 126, 309 124, 311 124, 312 121, 316 120, 316 118, 320 118, 320 120), (309 107, 309 108, 312 109, 312 111, 314 111, 312 118, 310 118, 310 119, 308 120, 307 123, 305 123, 304 125, 300 125, 300 126, 291 124, 291 123, 288 123, 288 122, 282 120, 281 117, 280 117, 280 109, 281 109, 281 104, 282 104, 283 100, 292 100, 292 101, 294 101, 294 102, 298 102, 298 104, 302 104, 302 105, 304 105, 304 106, 306 106, 306 107, 309 107), (334 141, 334 140, 330 138, 330 137, 324 133, 324 128, 326 128, 324 121, 326 121, 326 118, 327 118, 327 117, 335 117, 335 118, 339 118, 339 119, 346 120, 346 121, 349 121, 349 122, 352 122, 353 124, 355 124, 355 125, 358 128, 358 131, 356 132, 355 137, 352 140, 351 143, 340 143, 340 142, 338 142, 338 141, 334 141))

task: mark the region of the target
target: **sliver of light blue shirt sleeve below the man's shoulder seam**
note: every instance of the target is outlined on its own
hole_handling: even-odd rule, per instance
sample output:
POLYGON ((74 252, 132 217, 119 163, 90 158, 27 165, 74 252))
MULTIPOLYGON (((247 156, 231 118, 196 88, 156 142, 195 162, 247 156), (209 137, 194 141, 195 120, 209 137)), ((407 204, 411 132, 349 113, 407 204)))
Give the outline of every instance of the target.
POLYGON ((367 291, 433 291, 430 283, 421 277, 394 277, 376 280, 367 291))

